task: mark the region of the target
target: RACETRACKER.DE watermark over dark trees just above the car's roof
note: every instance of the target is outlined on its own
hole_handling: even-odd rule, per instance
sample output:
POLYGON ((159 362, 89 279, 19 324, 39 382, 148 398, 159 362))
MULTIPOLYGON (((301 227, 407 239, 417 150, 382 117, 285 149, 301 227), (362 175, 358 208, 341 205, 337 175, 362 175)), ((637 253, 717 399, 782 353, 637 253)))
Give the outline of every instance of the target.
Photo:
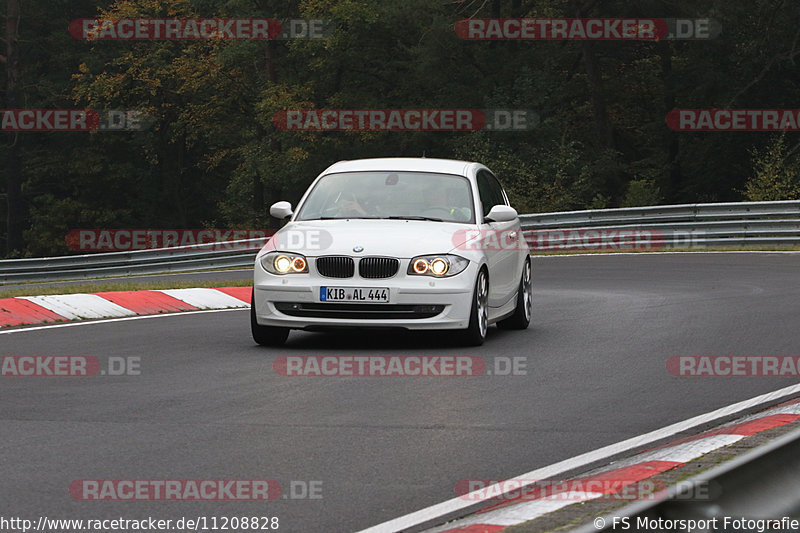
POLYGON ((272 122, 285 131, 528 131, 532 109, 284 109, 272 122))

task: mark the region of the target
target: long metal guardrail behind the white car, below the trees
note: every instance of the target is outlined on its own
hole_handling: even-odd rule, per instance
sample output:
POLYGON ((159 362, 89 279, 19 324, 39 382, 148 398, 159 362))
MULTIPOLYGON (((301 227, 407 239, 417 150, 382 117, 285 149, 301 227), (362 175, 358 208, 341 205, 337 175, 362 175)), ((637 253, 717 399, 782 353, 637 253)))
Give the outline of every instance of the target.
MULTIPOLYGON (((534 251, 800 245, 800 201, 685 204, 520 215, 534 251)), ((0 284, 244 268, 263 239, 0 261, 0 284)), ((502 245, 502 244, 501 244, 502 245)))

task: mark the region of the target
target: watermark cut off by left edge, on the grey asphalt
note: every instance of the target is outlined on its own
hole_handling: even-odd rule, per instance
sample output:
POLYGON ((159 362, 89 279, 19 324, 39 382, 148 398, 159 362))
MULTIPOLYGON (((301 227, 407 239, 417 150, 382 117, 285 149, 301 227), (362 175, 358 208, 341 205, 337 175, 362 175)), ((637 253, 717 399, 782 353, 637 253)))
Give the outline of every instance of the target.
POLYGON ((86 378, 139 376, 141 357, 108 357, 104 363, 93 355, 4 355, 0 377, 86 378))

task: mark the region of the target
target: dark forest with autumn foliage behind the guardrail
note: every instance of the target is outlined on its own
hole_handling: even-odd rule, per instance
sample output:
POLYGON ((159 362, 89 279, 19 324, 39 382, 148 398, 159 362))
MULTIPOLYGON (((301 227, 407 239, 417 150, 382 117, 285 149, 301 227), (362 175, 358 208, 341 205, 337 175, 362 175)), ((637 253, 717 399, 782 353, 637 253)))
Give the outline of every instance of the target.
MULTIPOLYGON (((143 132, 7 135, 20 152, 26 247, 63 254, 78 228, 263 227, 341 159, 451 157, 497 172, 520 212, 798 198, 790 137, 675 133, 679 108, 795 108, 800 4, 599 0, 582 17, 711 17, 711 41, 460 39, 468 17, 573 17, 560 0, 23 1, 20 105, 136 109, 143 132), (79 41, 86 17, 321 18, 326 39, 79 41), (605 111, 598 111, 598 99, 605 111), (528 132, 287 132, 287 109, 534 109, 528 132), (603 130, 603 124, 608 130, 603 130), (610 132, 610 135, 605 133, 610 132)), ((0 89, 5 97, 4 89, 0 89)), ((3 195, 5 183, 0 183, 3 195)), ((2 196, 0 196, 2 197, 2 196)), ((5 206, 0 208, 0 245, 5 206)))

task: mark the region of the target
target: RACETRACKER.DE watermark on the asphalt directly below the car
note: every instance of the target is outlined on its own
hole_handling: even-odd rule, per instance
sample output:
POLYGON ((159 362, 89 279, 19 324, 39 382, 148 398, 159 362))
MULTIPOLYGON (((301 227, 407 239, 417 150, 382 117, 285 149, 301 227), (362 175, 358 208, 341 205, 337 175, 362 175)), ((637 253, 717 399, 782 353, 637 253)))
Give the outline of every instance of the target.
POLYGON ((527 357, 472 355, 282 355, 272 368, 284 377, 525 376, 527 357))

